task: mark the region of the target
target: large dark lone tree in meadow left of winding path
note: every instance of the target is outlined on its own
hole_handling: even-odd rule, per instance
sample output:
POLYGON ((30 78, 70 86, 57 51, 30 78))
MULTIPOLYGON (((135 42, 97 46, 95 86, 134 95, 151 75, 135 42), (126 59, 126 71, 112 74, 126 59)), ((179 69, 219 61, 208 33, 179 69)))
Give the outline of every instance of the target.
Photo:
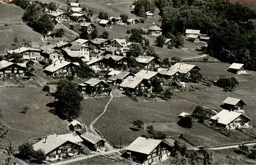
POLYGON ((58 115, 66 116, 68 114, 68 119, 76 119, 81 114, 83 97, 78 92, 76 85, 69 80, 58 82, 55 99, 57 99, 55 109, 58 115))

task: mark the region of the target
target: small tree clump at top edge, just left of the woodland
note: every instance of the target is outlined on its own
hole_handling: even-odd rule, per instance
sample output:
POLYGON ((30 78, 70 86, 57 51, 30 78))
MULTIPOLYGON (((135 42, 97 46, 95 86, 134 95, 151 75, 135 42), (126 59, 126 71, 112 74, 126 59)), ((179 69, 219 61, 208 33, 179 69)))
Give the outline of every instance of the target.
POLYGON ((152 0, 138 0, 135 3, 134 13, 138 16, 144 17, 145 12, 154 12, 156 5, 152 0))

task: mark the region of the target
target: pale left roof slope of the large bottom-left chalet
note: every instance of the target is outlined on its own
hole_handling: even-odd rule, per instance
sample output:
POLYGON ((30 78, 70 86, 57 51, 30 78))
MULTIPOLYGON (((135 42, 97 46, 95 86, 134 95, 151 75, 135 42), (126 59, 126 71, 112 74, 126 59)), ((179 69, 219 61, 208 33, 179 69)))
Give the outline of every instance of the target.
POLYGON ((35 151, 42 149, 45 151, 45 154, 48 154, 52 150, 56 149, 57 147, 65 144, 68 140, 56 137, 56 135, 49 135, 47 136, 47 142, 45 143, 45 138, 37 142, 33 145, 35 151))

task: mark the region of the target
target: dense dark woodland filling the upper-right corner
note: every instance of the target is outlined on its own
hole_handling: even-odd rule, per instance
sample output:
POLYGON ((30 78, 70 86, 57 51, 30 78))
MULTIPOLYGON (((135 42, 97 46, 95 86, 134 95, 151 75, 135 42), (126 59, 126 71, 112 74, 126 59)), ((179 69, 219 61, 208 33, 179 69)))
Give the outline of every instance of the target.
MULTIPOLYGON (((138 0, 135 14, 154 9, 152 0, 138 0)), ((198 29, 210 37, 207 52, 224 62, 256 69, 256 11, 224 0, 155 0, 167 38, 198 29)))

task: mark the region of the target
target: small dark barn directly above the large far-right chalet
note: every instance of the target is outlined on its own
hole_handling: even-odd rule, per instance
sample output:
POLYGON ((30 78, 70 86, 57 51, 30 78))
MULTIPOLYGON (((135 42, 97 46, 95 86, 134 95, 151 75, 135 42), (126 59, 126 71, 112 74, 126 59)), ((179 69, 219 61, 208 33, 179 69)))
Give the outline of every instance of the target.
POLYGON ((224 104, 223 108, 225 108, 227 110, 232 110, 232 111, 243 110, 244 105, 246 105, 243 102, 243 100, 231 98, 231 97, 227 97, 222 103, 224 104))

